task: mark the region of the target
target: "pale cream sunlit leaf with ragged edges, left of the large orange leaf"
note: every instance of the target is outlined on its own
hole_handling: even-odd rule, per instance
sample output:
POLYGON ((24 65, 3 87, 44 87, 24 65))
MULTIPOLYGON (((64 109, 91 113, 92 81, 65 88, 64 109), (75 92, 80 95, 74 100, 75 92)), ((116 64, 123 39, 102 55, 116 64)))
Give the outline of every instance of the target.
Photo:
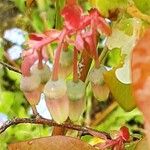
POLYGON ((141 30, 141 20, 132 18, 130 20, 128 19, 128 21, 132 24, 131 27, 133 27, 132 34, 126 34, 123 29, 120 30, 116 28, 116 24, 114 24, 112 35, 108 38, 106 43, 109 49, 120 48, 121 54, 125 55, 124 65, 122 68, 116 70, 117 79, 125 84, 131 83, 131 53, 137 39, 139 38, 141 30))

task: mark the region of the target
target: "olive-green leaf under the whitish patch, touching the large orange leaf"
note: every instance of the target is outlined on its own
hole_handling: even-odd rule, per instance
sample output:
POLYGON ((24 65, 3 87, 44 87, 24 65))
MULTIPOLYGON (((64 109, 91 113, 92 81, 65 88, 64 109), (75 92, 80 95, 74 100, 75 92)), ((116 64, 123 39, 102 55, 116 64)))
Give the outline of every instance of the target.
POLYGON ((115 76, 115 69, 105 72, 104 79, 119 105, 125 111, 133 110, 136 105, 132 95, 131 84, 121 83, 115 76))

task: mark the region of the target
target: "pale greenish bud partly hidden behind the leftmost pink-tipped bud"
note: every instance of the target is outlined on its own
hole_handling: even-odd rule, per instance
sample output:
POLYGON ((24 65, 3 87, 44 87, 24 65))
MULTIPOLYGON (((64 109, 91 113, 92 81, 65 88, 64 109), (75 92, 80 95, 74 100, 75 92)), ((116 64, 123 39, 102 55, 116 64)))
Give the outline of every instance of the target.
POLYGON ((38 68, 38 64, 31 67, 31 74, 37 74, 41 78, 41 83, 45 84, 51 76, 51 70, 48 65, 43 64, 43 68, 38 68))

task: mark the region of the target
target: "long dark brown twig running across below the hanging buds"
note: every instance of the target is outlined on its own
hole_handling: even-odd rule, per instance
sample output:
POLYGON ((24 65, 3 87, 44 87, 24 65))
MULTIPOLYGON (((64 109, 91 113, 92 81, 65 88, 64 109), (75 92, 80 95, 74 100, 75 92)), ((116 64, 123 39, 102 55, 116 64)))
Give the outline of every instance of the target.
POLYGON ((83 127, 83 126, 80 126, 80 125, 74 125, 74 124, 70 124, 70 123, 58 124, 58 123, 54 122, 53 120, 45 119, 45 118, 42 118, 42 117, 37 117, 37 118, 15 118, 15 119, 12 119, 10 121, 6 121, 0 127, 0 134, 12 125, 23 124, 23 123, 42 124, 42 125, 48 125, 48 126, 62 127, 62 128, 67 128, 67 129, 71 129, 71 130, 81 131, 82 133, 88 134, 88 135, 97 134, 101 138, 111 139, 110 135, 106 132, 101 132, 101 131, 94 130, 92 128, 83 127))

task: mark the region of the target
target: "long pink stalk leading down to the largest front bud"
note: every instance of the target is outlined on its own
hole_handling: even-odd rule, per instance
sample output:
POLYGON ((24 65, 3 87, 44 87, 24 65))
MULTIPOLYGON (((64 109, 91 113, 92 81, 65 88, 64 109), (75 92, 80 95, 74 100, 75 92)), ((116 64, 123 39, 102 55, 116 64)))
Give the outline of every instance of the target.
POLYGON ((59 45, 56 49, 56 54, 55 54, 55 59, 54 59, 54 64, 53 64, 53 73, 52 73, 52 80, 56 81, 58 80, 58 71, 59 71, 59 59, 60 59, 60 54, 61 50, 64 45, 64 38, 66 36, 66 29, 64 29, 60 35, 60 42, 59 45))

